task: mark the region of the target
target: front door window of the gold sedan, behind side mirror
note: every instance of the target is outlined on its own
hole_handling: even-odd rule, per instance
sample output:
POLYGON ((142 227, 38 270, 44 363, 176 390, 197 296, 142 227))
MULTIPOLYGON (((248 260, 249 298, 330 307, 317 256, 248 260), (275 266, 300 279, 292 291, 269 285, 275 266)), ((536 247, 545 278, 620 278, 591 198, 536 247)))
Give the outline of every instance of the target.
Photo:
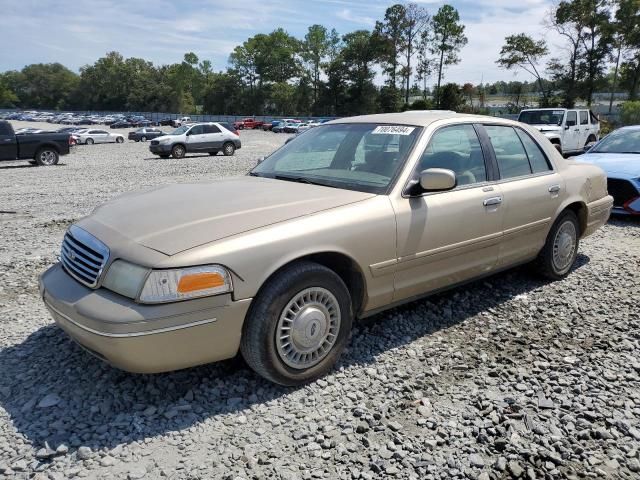
POLYGON ((418 164, 419 171, 427 168, 453 170, 459 186, 485 182, 484 155, 473 126, 453 125, 437 130, 418 164))

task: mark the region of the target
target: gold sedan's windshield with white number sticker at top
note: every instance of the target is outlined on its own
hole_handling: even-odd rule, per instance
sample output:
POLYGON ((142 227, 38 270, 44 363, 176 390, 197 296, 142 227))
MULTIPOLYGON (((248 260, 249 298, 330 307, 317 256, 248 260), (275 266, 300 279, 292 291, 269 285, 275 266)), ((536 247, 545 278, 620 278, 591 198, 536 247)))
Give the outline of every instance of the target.
POLYGON ((386 193, 420 131, 409 125, 324 125, 276 150, 251 175, 386 193))

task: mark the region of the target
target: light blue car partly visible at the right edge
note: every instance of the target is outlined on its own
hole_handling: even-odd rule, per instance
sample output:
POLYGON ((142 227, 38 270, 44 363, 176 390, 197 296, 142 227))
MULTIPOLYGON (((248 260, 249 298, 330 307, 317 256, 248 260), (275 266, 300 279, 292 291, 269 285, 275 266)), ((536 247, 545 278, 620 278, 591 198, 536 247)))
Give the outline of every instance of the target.
POLYGON ((640 125, 611 132, 575 160, 607 172, 612 213, 640 216, 640 125))

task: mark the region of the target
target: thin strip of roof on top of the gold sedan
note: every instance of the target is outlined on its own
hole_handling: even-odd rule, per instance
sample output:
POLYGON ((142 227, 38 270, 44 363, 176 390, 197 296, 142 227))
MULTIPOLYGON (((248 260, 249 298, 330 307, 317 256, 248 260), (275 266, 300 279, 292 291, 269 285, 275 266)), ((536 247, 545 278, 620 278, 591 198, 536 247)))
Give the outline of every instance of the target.
POLYGON ((509 125, 517 123, 513 120, 507 120, 500 117, 456 113, 451 110, 411 110, 409 112, 379 113, 374 115, 360 115, 357 117, 339 118, 337 120, 326 122, 323 125, 333 125, 340 123, 386 123, 427 127, 432 123, 440 120, 476 121, 485 123, 491 122, 504 123, 509 125))

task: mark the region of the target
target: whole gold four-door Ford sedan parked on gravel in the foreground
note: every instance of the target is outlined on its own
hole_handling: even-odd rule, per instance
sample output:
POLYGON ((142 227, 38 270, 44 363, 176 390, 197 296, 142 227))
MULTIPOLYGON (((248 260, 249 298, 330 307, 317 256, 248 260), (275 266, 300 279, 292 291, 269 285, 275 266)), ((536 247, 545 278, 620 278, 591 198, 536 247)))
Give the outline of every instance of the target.
POLYGON ((352 322, 533 263, 566 276, 609 218, 604 172, 527 125, 450 112, 347 118, 246 177, 130 193, 68 230, 40 279, 55 321, 132 372, 233 357, 315 379, 352 322))

